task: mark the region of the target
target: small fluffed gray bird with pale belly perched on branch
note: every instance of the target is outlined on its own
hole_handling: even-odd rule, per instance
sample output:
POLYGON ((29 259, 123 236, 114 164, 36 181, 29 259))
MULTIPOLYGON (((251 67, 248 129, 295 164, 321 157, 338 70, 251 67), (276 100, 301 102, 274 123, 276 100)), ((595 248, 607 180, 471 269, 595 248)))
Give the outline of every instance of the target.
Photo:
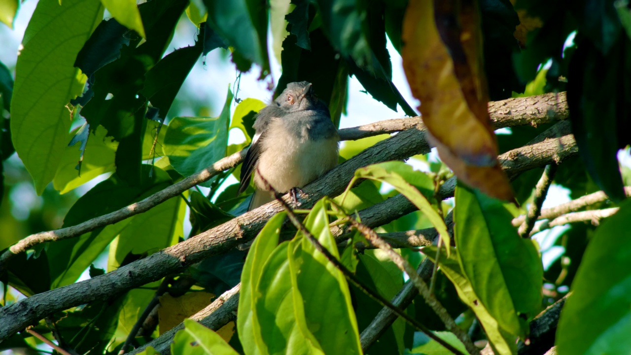
POLYGON ((261 176, 280 193, 304 187, 338 164, 338 131, 311 83, 289 83, 256 116, 256 134, 241 168, 239 193, 254 173, 257 190, 248 210, 273 200, 261 176), (261 174, 261 175, 259 175, 261 174))

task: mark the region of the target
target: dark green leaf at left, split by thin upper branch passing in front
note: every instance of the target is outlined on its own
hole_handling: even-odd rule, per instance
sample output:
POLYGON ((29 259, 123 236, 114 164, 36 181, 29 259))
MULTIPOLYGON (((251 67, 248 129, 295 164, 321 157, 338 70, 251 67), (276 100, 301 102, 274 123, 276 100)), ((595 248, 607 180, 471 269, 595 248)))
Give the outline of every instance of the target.
MULTIPOLYGON (((172 183, 168 174, 162 169, 153 167, 153 176, 150 177, 149 172, 151 170, 152 167, 144 165, 143 173, 145 179, 140 186, 130 186, 117 174, 97 184, 74 203, 68 214, 66 214, 64 226, 75 226, 88 219, 114 212, 131 203, 138 202, 172 183)), ((178 198, 180 197, 175 197, 172 200, 175 199, 177 202, 178 198)), ((164 203, 171 203, 172 200, 164 203)), ((160 208, 160 206, 155 208, 160 208)), ((151 211, 147 213, 152 214, 151 211)), ((64 239, 51 243, 47 250, 47 255, 49 255, 49 260, 51 260, 49 265, 52 287, 71 284, 78 279, 81 273, 105 250, 105 247, 112 239, 125 229, 127 224, 139 216, 141 215, 88 232, 79 238, 64 239)))

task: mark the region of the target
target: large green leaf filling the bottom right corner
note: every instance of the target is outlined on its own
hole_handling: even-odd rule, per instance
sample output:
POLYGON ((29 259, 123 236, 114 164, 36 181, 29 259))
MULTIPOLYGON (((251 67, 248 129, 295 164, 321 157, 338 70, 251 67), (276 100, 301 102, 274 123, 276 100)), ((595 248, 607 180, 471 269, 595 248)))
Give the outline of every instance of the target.
POLYGON ((596 229, 561 312, 558 354, 626 354, 631 347, 631 202, 596 229))

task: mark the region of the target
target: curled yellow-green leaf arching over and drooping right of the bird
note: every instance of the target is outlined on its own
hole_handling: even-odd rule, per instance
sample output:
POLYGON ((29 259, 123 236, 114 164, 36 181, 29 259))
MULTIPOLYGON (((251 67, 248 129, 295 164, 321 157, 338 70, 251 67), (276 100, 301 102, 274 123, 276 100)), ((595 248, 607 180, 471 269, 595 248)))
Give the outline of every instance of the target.
MULTIPOLYGON (((355 171, 355 176, 344 191, 344 196, 357 179, 371 179, 391 184, 427 216, 439 232, 443 245, 449 245, 450 238, 445 221, 438 214, 437 207, 432 205, 436 203, 433 197, 433 181, 425 173, 414 171, 410 165, 398 161, 369 165, 355 171)), ((447 252, 449 253, 449 250, 447 252)))

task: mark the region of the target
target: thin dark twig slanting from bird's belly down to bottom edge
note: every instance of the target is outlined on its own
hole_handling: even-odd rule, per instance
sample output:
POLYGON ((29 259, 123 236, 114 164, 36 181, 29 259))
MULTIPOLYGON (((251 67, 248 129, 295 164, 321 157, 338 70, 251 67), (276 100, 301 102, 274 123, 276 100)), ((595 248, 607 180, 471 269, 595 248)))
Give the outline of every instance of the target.
MULTIPOLYGON (((259 176, 261 176, 261 174, 259 174, 259 176)), ((266 184, 266 189, 267 190, 273 190, 273 187, 271 186, 271 184, 269 184, 268 181, 266 181, 264 178, 262 178, 262 176, 261 176, 261 180, 263 181, 264 184, 266 184)), ((292 207, 290 207, 285 202, 285 200, 283 200, 283 198, 281 198, 280 194, 278 194, 278 193, 276 193, 276 191, 274 191, 274 196, 276 198, 276 201, 280 202, 281 205, 283 205, 283 208, 285 208, 285 210, 287 212, 287 217, 289 217, 289 220, 292 222, 293 226, 296 227, 296 229, 298 229, 298 231, 300 231, 302 233, 302 235, 304 235, 305 238, 307 238, 307 240, 309 240, 309 242, 311 244, 313 244, 315 250, 317 250, 320 253, 322 253, 327 258, 327 260, 329 260, 329 262, 334 265, 334 267, 338 268, 338 270, 342 274, 345 275, 346 279, 348 279, 355 286, 357 286, 359 289, 361 289, 363 292, 365 292, 368 296, 370 296, 371 298, 375 299, 375 301, 379 302, 383 306, 386 306, 386 307, 390 308, 398 316, 400 316, 401 318, 403 318, 404 320, 409 322, 411 325, 416 327, 421 332, 425 333, 428 337, 430 337, 430 339, 435 340, 440 345, 444 346, 445 349, 448 349, 449 351, 453 352, 454 354, 464 355, 458 349, 456 349, 455 347, 451 346, 451 344, 445 342, 444 340, 440 339, 440 337, 438 337, 437 335, 433 334, 433 332, 431 330, 429 330, 427 327, 425 327, 425 325, 422 325, 421 323, 419 323, 414 318, 411 318, 407 313, 405 313, 403 310, 399 309, 397 306, 392 304, 386 298, 381 296, 378 292, 372 291, 372 289, 369 289, 369 287, 365 286, 359 279, 357 279, 357 277, 350 270, 348 270, 348 268, 346 268, 341 262, 339 262, 339 260, 329 252, 329 250, 324 248, 324 246, 322 246, 322 244, 317 239, 315 239, 313 234, 311 234, 311 232, 309 232, 307 230, 307 227, 305 227, 304 224, 302 224, 302 222, 300 222, 300 219, 298 219, 298 217, 293 213, 292 207)), ((415 272, 414 272, 414 274, 416 275, 415 272)))

